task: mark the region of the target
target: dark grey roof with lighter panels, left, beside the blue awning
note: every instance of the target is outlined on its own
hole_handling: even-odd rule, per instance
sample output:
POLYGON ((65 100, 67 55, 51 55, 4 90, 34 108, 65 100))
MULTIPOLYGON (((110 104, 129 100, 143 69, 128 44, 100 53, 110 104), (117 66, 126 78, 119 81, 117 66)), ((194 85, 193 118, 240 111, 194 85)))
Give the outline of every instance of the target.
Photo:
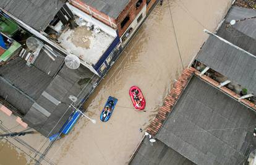
MULTIPOLYGON (((59 119, 61 121, 50 135, 61 129, 74 110, 69 109, 66 112, 68 104, 71 103, 69 95, 77 96, 87 85, 79 85, 79 80, 93 75, 82 65, 79 69, 68 69, 61 65, 62 61, 63 58, 56 58, 53 62, 42 51, 35 66, 27 66, 26 61, 18 56, 0 67, 0 75, 4 78, 0 77, 0 96, 23 114, 24 122, 45 136, 51 132, 59 119), (57 70, 58 74, 53 77, 57 70), (51 74, 48 75, 49 71, 51 74), (58 104, 58 101, 61 103, 58 104), (61 118, 63 114, 64 117, 61 118)), ((87 91, 92 88, 89 83, 87 91)))

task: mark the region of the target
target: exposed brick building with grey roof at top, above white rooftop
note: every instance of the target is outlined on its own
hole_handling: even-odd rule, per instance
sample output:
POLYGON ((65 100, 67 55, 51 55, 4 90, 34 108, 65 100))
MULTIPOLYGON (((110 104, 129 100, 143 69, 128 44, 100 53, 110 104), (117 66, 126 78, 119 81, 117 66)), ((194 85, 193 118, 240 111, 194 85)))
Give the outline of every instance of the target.
MULTIPOLYGON (((71 0, 72 5, 78 7, 95 19, 106 23, 118 31, 119 36, 131 33, 139 26, 147 15, 146 0, 108 0, 108 1, 90 1, 90 0, 71 0), (131 28, 131 29, 130 29, 131 28)), ((150 7, 156 0, 148 2, 150 7)), ((128 36, 128 35, 127 35, 128 36)))

